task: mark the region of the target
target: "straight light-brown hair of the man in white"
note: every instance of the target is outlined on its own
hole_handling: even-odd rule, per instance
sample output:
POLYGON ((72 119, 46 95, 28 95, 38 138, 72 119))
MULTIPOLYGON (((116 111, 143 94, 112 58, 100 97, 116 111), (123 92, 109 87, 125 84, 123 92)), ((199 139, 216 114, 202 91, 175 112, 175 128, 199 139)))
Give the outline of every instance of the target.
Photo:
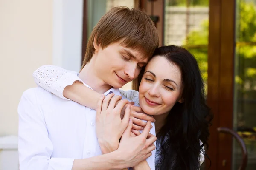
POLYGON ((117 6, 111 8, 93 28, 87 43, 82 68, 93 57, 93 41, 104 49, 111 43, 123 40, 121 45, 151 57, 159 45, 157 29, 143 10, 117 6))

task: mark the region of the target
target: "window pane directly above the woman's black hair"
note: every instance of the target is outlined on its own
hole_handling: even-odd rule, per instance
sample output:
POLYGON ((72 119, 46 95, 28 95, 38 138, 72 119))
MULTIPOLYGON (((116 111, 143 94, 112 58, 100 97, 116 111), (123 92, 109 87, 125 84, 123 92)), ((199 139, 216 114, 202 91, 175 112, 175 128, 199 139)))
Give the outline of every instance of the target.
POLYGON ((181 45, 195 56, 207 91, 209 0, 166 0, 164 17, 164 45, 181 45))

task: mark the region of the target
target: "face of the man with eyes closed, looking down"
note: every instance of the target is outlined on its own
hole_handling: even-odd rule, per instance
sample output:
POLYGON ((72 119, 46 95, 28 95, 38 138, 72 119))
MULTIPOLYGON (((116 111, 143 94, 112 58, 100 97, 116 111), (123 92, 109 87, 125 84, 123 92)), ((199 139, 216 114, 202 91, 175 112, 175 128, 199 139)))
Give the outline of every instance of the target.
POLYGON ((104 49, 99 45, 94 54, 97 76, 114 88, 121 88, 138 77, 149 59, 143 59, 140 51, 126 48, 120 42, 112 43, 104 49))

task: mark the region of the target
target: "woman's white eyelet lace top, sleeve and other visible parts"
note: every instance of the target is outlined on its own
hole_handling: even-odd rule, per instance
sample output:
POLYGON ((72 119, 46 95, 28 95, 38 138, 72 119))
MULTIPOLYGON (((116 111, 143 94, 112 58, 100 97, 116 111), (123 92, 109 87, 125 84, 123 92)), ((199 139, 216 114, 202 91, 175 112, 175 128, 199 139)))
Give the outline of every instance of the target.
MULTIPOLYGON (((38 68, 33 73, 33 77, 35 79, 35 82, 38 86, 41 86, 45 90, 51 92, 52 94, 55 94, 56 96, 65 99, 66 97, 63 96, 63 90, 66 86, 72 85, 73 82, 81 81, 81 79, 78 77, 78 73, 75 71, 68 71, 64 68, 54 66, 54 65, 43 65, 40 68, 38 68)), ((84 84, 84 83, 83 83, 84 84)), ((86 84, 84 84, 87 86, 86 84)), ((119 89, 120 94, 124 96, 127 99, 130 99, 135 104, 139 105, 139 92, 135 90, 128 90, 124 91, 119 89)), ((200 145, 202 142, 200 141, 200 145)), ((157 147, 159 148, 159 147, 157 147)), ((204 152, 204 147, 201 149, 204 152)), ((156 149, 156 161, 158 158, 157 152, 160 150, 156 149)), ((204 162, 204 154, 200 153, 199 156, 199 163, 200 165, 204 162)))

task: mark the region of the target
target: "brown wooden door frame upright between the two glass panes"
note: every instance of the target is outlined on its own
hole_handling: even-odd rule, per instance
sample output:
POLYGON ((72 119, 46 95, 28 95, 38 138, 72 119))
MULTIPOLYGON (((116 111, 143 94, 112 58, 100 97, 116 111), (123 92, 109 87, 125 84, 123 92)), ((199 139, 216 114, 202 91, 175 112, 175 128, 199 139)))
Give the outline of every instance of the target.
POLYGON ((211 170, 232 169, 232 137, 218 134, 217 127, 233 129, 235 9, 235 0, 209 0, 207 104, 214 119, 207 155, 211 170))

